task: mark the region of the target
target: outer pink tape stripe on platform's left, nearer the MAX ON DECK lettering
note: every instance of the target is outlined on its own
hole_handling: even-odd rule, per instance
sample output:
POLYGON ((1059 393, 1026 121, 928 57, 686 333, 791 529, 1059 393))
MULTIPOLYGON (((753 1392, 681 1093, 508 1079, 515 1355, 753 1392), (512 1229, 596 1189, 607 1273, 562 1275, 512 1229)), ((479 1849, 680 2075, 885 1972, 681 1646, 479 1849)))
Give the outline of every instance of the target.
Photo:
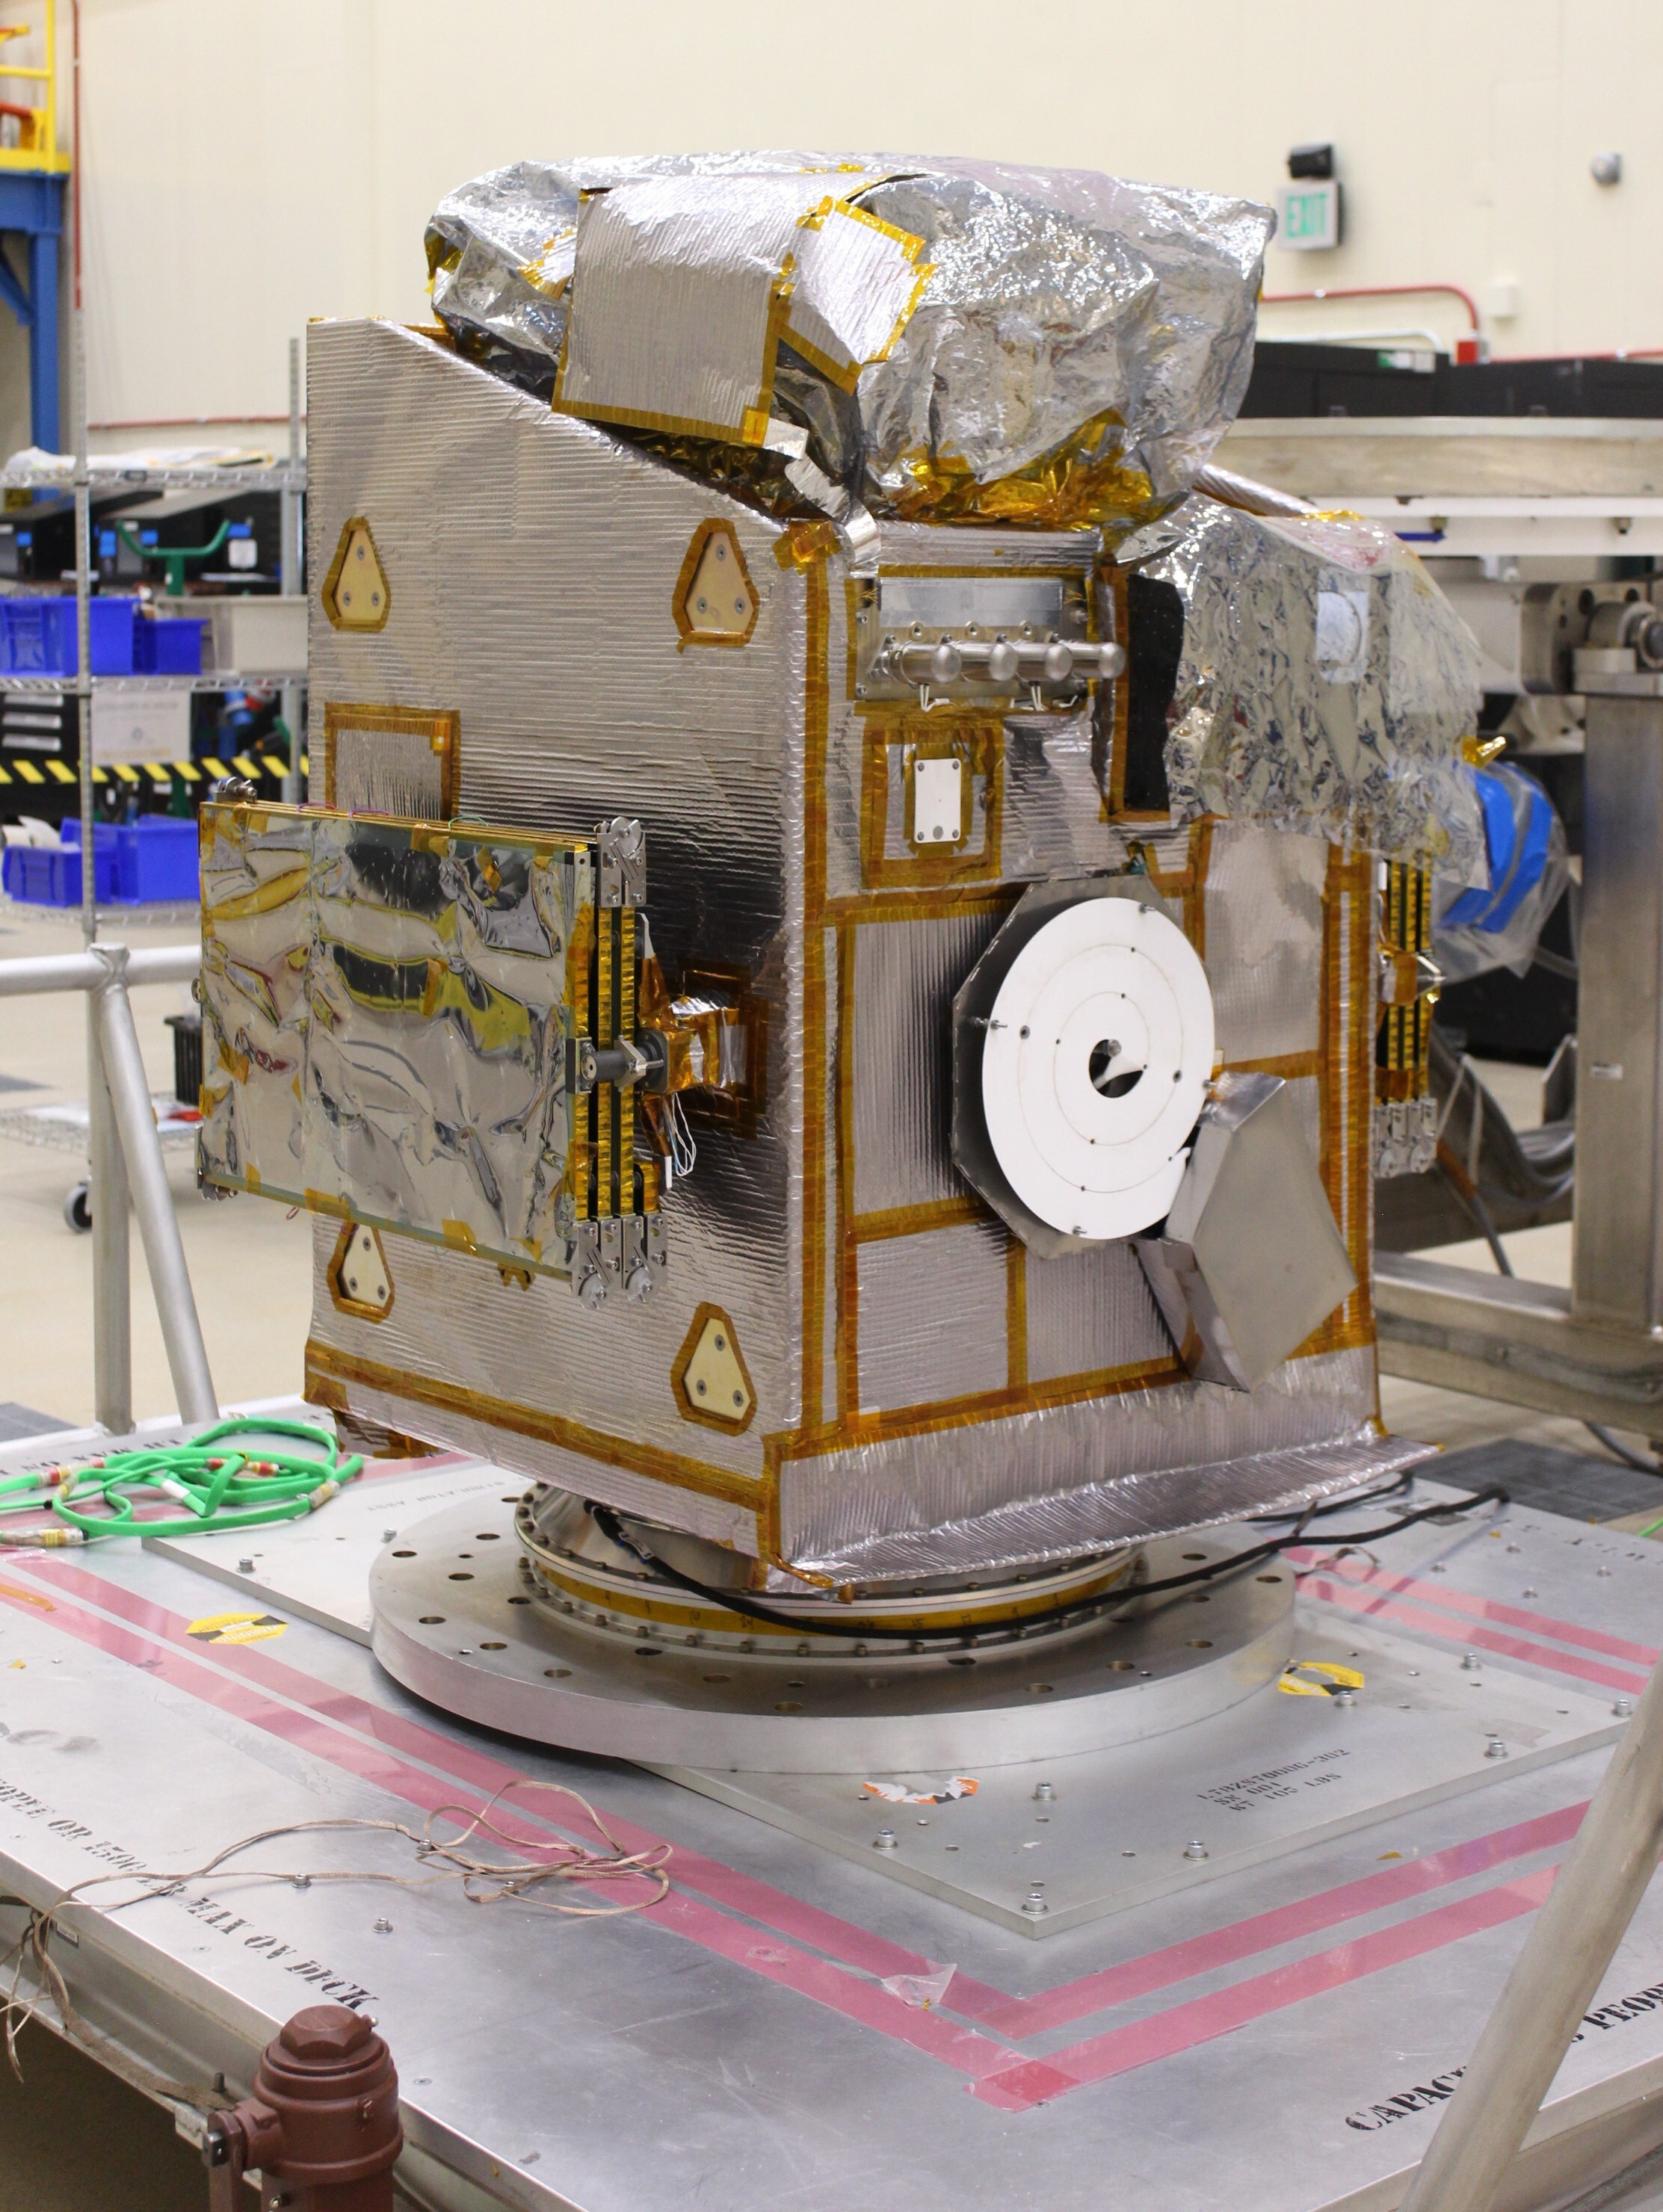
MULTIPOLYGON (((4 1584, 0 1584, 0 1601, 9 1604, 15 1613, 33 1610, 27 1599, 9 1590, 4 1584)), ((402 1759, 394 1759, 369 1743, 360 1743, 356 1736, 332 1728, 314 1714, 294 1712, 290 1705, 274 1705, 270 1699, 243 1688, 217 1668, 201 1666, 197 1659, 186 1659, 166 1644, 155 1646, 142 1641, 128 1628, 122 1628, 115 1621, 104 1621, 73 1604, 55 1606, 51 1626, 64 1635, 77 1637, 82 1644, 91 1644, 95 1650, 102 1650, 113 1659, 144 1668, 148 1674, 159 1677, 172 1688, 186 1690, 192 1697, 217 1705, 221 1712, 234 1714, 239 1721, 248 1721, 265 1734, 279 1736, 283 1743, 292 1743, 310 1756, 323 1759, 330 1765, 385 1790, 389 1796, 396 1796, 407 1805, 416 1805, 422 1812, 436 1812, 440 1805, 451 1803, 453 1790, 433 1781, 431 1774, 422 1774, 420 1767, 411 1767, 402 1759)), ((219 1650, 239 1648, 241 1646, 219 1646, 219 1650)), ((473 1794, 469 1812, 478 1812, 480 1803, 482 1796, 473 1794)), ((608 1902, 628 1902, 632 1896, 639 1896, 639 1887, 632 1882, 606 1882, 593 1887, 599 1896, 608 1898, 608 1902)), ((714 1951, 721 1958, 732 1960, 750 1973, 759 1973, 767 1982, 794 1989, 798 1995, 814 1997, 818 2004, 825 2004, 862 2026, 878 2028, 896 2042, 911 2044, 916 2051, 924 2051, 929 2057, 935 2057, 973 2079, 1019 2064, 1019 2053, 1006 2051, 971 2028, 960 2028, 940 2013, 909 2006, 900 1997, 891 1997, 889 1991, 880 1989, 876 1982, 858 1980, 825 1960, 809 1958, 805 1951, 776 1949, 761 1942, 754 1929, 743 1927, 739 1920, 730 1920, 725 1913, 712 1911, 712 1907, 701 1905, 697 1898, 686 1893, 672 1893, 659 1905, 646 1907, 641 1918, 652 1920, 655 1927, 663 1927, 674 1936, 697 1942, 705 1951, 714 1951)))

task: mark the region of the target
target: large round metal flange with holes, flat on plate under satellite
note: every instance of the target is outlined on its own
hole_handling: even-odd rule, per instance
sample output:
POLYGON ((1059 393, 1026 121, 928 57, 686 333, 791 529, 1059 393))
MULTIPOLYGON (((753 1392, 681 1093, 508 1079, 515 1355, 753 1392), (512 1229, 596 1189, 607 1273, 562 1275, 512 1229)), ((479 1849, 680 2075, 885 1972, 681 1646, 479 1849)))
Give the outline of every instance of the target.
MULTIPOLYGON (((1148 1548, 1150 1579, 1236 1548, 1148 1548)), ((708 1648, 697 1628, 619 1635, 562 1610, 504 1504, 462 1504, 376 1559, 372 1648, 418 1697, 535 1743, 663 1767, 898 1774, 1106 1750, 1223 1712, 1294 1648, 1294 1575, 1267 1566, 1006 1648, 849 1655, 708 1648)), ((674 1593, 670 1593, 674 1595, 674 1593)))

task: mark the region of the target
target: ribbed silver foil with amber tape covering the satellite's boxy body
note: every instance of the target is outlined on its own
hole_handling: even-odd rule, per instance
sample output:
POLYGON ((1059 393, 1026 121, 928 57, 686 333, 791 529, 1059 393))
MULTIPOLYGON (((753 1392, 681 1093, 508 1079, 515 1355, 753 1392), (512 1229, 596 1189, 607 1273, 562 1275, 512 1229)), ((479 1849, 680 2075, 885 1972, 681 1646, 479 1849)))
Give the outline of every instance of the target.
MULTIPOLYGON (((1203 947, 1225 1062, 1272 1062, 1296 1091, 1367 1283, 1369 863, 1311 825, 1110 823, 1101 726, 1026 708, 975 710, 997 783, 977 854, 911 852, 854 695, 843 555, 781 562, 778 522, 420 334, 318 323, 307 358, 314 799, 347 706, 456 714, 462 821, 588 836, 637 814, 670 980, 719 960, 767 1009, 754 1119, 690 1106, 699 1161, 663 1199, 644 1305, 586 1312, 555 1276, 387 1234, 394 1303, 374 1321, 334 1303, 338 1221, 321 1219, 310 1394, 776 1566, 893 1540, 922 1573, 940 1528, 938 1571, 993 1568, 1064 1524, 1064 1548, 1119 1542, 1132 1495, 1148 1533, 1358 1480, 1367 1298, 1258 1391, 1188 1383, 1128 1245, 1026 1261, 966 1194, 949 1009, 1024 883, 1141 854, 1150 900, 1203 947), (354 515, 391 584, 387 626, 358 635, 316 602, 354 515), (712 520, 756 593, 743 648, 683 648, 672 619, 712 520), (708 1305, 756 1394, 739 1433, 683 1418, 672 1387, 708 1305), (1234 1489, 1225 1462, 1245 1469, 1234 1489)), ((971 582, 1090 580, 1099 555, 1097 531, 991 524, 885 522, 876 546, 880 575, 971 582)), ((951 710, 924 721, 946 728, 951 710)))

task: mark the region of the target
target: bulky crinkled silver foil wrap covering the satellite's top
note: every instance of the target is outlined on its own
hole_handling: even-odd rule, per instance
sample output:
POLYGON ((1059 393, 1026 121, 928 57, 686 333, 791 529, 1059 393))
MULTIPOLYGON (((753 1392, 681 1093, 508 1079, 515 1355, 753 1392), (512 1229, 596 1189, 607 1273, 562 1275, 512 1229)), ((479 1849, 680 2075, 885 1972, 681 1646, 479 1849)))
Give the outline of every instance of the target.
POLYGON ((694 469, 688 436, 723 431, 672 396, 697 369, 683 341, 714 356, 743 323, 756 420, 730 405, 725 436, 756 447, 761 418, 796 425, 880 515, 1119 531, 1181 498, 1234 418, 1269 232, 1252 201, 1092 170, 657 155, 475 177, 436 208, 427 259, 473 358, 542 398, 559 372, 562 405, 632 416, 637 438, 679 431, 694 469), (787 201, 832 212, 792 230, 787 201), (787 252, 792 292, 756 347, 787 252), (655 374, 663 396, 644 398, 655 374))

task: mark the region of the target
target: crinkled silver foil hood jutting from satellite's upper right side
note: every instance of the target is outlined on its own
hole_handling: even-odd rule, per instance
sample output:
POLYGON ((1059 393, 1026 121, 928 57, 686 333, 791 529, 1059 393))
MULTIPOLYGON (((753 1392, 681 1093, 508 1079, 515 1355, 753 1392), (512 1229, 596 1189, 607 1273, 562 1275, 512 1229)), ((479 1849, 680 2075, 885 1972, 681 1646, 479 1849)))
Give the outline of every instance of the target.
POLYGON ((1183 597, 1165 745, 1176 821, 1316 830, 1484 880, 1460 741, 1477 728, 1479 653, 1422 562, 1356 518, 1247 515, 1188 500, 1132 540, 1183 597))

